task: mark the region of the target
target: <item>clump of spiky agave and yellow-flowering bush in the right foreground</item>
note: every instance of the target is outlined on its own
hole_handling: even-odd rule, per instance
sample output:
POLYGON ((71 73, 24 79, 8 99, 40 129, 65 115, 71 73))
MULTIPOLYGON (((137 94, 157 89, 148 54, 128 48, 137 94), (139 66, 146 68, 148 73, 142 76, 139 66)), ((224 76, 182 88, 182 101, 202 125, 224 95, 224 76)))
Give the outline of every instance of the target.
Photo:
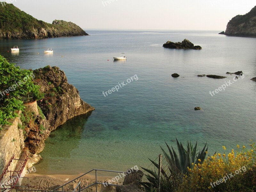
MULTIPOLYGON (((251 141, 249 149, 246 149, 245 146, 240 149, 240 146, 237 145, 237 151, 235 152, 232 149, 230 153, 226 153, 226 147, 222 146, 223 152, 215 153, 213 156, 208 155, 207 158, 206 146, 200 152, 196 152, 196 146, 193 148, 191 144, 187 144, 187 149, 185 150, 182 144, 177 141, 179 156, 168 145, 170 156, 162 148, 163 158, 168 166, 162 166, 161 192, 256 191, 255 143, 251 141), (186 165, 188 165, 187 168, 185 168, 186 165)), ((156 169, 152 171, 143 168, 148 172, 148 175, 146 175, 148 182, 142 182, 141 184, 144 186, 145 191, 156 192, 158 164, 154 161, 151 162, 156 169)))

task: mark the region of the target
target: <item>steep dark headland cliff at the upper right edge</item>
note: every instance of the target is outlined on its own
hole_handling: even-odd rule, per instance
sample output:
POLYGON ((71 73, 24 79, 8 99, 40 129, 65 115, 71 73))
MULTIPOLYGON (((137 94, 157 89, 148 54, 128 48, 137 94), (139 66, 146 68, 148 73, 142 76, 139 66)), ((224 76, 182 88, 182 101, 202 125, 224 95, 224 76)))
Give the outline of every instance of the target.
POLYGON ((245 15, 233 17, 228 22, 225 35, 256 36, 256 6, 245 15))

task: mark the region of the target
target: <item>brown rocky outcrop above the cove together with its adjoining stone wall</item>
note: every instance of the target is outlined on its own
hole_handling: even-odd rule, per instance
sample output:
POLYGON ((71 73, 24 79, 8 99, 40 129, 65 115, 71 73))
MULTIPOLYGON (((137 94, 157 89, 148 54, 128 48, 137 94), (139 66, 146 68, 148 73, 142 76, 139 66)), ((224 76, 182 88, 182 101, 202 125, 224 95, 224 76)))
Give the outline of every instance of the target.
MULTIPOLYGON (((34 70, 33 74, 34 84, 40 85, 44 98, 25 103, 25 109, 10 120, 11 125, 2 127, 0 171, 6 167, 12 155, 19 158, 24 151, 29 156, 26 169, 32 167, 42 159, 37 154, 43 151, 44 140, 51 131, 72 117, 82 114, 88 117, 94 110, 80 98, 78 90, 68 84, 67 77, 60 68, 46 66, 34 70)), ((12 170, 16 165, 17 162, 12 164, 12 170)))

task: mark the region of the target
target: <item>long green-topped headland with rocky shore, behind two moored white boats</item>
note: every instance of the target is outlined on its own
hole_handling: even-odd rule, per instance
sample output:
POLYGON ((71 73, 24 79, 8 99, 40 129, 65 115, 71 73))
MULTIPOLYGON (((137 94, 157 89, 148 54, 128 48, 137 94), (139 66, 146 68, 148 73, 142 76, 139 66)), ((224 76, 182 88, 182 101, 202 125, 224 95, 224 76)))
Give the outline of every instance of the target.
POLYGON ((88 35, 72 22, 37 20, 13 4, 0 6, 0 39, 30 39, 88 35))

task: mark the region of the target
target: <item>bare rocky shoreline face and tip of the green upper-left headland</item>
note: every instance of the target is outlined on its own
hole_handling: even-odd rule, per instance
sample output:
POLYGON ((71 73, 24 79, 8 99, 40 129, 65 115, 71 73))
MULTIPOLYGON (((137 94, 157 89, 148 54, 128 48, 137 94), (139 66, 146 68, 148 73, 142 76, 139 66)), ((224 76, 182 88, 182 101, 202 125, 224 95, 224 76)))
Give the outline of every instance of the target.
POLYGON ((63 20, 54 20, 52 25, 45 28, 32 28, 24 31, 0 30, 1 39, 37 39, 86 35, 88 34, 76 24, 63 20))

